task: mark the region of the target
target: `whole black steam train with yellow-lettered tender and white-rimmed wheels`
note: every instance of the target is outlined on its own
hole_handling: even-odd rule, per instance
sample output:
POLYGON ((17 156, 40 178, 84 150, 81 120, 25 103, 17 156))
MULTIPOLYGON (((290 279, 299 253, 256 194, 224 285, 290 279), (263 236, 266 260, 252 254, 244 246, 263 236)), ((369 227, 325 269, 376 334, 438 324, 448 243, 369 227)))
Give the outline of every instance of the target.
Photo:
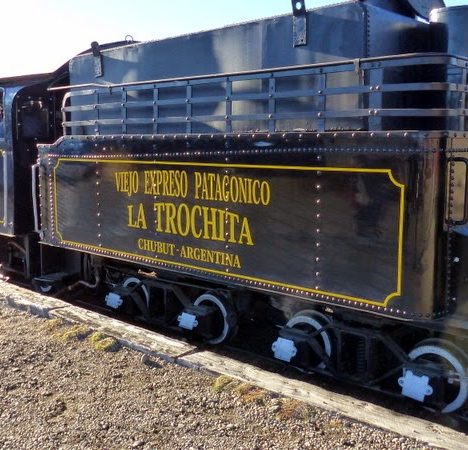
POLYGON ((465 414, 467 25, 292 1, 1 79, 2 273, 465 414))

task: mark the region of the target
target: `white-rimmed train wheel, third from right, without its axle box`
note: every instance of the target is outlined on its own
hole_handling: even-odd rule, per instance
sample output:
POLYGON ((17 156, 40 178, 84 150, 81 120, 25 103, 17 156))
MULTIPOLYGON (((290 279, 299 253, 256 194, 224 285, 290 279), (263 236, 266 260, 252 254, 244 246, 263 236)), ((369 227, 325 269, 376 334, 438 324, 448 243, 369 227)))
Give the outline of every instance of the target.
POLYGON ((238 330, 237 313, 229 297, 216 293, 205 293, 200 295, 195 306, 209 306, 214 308, 211 321, 209 344, 218 345, 232 339, 238 330))

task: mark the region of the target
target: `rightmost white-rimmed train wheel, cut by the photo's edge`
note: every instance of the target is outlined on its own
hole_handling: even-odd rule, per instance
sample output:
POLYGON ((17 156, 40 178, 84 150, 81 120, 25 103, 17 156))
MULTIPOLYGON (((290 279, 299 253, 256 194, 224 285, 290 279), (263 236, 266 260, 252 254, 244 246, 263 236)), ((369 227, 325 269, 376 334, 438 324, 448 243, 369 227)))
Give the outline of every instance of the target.
MULTIPOLYGON (((452 342, 444 339, 427 339, 421 341, 411 352, 408 354, 411 361, 421 364, 421 371, 424 373, 425 369, 433 369, 436 371, 442 370, 443 376, 437 378, 441 380, 441 384, 436 382, 429 384, 430 377, 425 382, 426 392, 421 398, 417 400, 423 401, 425 396, 431 396, 436 389, 442 389, 442 412, 450 413, 456 411, 466 402, 468 398, 468 358, 465 353, 452 342)), ((428 372, 429 373, 429 372, 428 372)), ((414 377, 415 383, 420 383, 422 377, 417 375, 414 377)), ((399 384, 403 387, 405 378, 407 377, 407 370, 403 371, 403 377, 399 379, 399 384)), ((403 391, 404 394, 404 391, 403 391)), ((410 395, 411 397, 411 395, 410 395)))

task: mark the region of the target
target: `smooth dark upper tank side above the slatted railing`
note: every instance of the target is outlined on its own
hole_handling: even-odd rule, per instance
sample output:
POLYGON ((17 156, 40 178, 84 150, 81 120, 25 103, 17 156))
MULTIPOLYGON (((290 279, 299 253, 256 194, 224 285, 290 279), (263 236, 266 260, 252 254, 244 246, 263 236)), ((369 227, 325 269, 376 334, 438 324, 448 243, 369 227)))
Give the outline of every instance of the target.
MULTIPOLYGON (((345 2, 307 11, 306 45, 292 45, 293 15, 288 14, 103 50, 99 79, 92 53, 80 55, 70 62, 71 83, 194 77, 430 51, 428 30, 427 23, 378 5, 345 2)), ((247 92, 257 89, 255 83, 243 85, 247 92)))

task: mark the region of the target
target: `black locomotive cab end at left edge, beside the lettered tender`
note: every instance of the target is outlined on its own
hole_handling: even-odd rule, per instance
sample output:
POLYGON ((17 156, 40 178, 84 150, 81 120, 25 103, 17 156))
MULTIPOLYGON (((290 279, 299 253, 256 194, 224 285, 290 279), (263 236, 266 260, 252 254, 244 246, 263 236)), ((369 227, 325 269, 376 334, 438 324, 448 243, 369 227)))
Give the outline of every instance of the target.
POLYGON ((61 133, 61 98, 48 88, 67 77, 63 66, 52 74, 0 80, 0 261, 7 277, 29 280, 40 271, 31 166, 37 143, 54 142, 61 133))

